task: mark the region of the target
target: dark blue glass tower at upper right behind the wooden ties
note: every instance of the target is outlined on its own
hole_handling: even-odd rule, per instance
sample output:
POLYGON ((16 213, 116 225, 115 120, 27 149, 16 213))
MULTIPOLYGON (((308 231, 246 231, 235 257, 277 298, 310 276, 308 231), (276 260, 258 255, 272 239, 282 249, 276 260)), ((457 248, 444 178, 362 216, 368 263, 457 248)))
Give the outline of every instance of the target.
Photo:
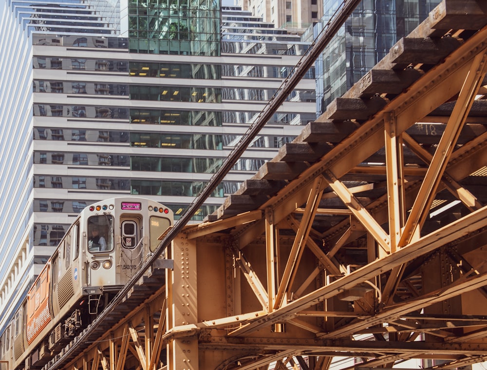
MULTIPOLYGON (((341 0, 323 0, 324 16, 333 16, 341 0)), ((389 49, 428 17, 440 0, 362 0, 316 61, 317 114, 384 58, 389 49)))

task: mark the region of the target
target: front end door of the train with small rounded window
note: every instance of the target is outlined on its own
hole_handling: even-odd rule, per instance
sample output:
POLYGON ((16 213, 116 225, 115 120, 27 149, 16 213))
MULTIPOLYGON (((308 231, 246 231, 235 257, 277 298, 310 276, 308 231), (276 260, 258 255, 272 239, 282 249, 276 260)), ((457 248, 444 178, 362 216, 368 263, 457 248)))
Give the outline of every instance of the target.
POLYGON ((120 217, 120 283, 127 281, 140 269, 144 261, 142 220, 135 216, 120 217))

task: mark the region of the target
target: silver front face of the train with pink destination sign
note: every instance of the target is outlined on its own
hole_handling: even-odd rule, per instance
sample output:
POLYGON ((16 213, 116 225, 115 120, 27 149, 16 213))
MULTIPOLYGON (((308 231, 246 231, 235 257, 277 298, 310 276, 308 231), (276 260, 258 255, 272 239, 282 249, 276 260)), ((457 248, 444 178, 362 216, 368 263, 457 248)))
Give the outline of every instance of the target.
POLYGON ((84 295, 120 290, 173 224, 169 208, 145 198, 107 199, 83 213, 84 295))

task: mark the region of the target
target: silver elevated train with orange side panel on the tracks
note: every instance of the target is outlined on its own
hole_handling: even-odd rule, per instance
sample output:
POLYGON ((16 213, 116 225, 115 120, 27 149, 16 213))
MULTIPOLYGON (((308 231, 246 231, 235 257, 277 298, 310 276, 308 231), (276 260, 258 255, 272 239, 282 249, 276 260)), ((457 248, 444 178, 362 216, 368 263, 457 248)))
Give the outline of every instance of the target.
POLYGON ((90 324, 174 222, 155 201, 116 197, 86 207, 0 336, 2 369, 39 369, 90 324))

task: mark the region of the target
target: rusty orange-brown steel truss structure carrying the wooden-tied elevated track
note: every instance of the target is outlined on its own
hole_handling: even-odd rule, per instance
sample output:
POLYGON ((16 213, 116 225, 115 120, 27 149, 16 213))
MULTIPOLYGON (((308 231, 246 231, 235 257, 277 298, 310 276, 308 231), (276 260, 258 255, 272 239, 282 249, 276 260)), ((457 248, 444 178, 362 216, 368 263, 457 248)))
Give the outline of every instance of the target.
POLYGON ((443 1, 43 369, 487 360, 486 11, 443 1))

